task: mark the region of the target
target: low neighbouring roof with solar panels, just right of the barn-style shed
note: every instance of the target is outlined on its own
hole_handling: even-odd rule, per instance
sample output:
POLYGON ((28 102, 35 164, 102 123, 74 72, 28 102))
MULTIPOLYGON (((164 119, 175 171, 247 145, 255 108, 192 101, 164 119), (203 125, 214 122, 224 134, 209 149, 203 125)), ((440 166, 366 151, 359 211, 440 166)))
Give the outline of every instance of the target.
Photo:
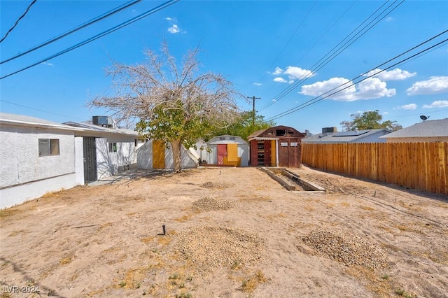
POLYGON ((315 134, 302 139, 302 143, 352 143, 373 134, 388 134, 388 129, 363 129, 350 132, 315 134))

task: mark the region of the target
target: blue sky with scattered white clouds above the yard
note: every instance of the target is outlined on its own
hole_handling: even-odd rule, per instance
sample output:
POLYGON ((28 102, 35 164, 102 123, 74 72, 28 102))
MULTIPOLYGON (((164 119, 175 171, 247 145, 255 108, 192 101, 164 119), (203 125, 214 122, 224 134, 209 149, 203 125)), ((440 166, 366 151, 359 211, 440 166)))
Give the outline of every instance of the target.
MULTIPOLYGON (((1 37, 30 3, 0 1, 1 37)), ((123 3, 126 1, 38 0, 0 43, 1 61, 123 3)), ((1 76, 162 3, 141 1, 5 62, 0 66, 1 76)), ((241 94, 261 97, 255 101, 258 113, 266 119, 275 118, 277 125, 316 134, 321 127, 342 129, 339 123, 350 120, 353 113, 379 110, 383 120, 395 120, 407 127, 421 121, 419 115, 430 116, 430 120, 448 117, 448 43, 370 78, 367 76, 379 70, 361 75, 447 30, 447 12, 448 1, 179 1, 92 43, 3 78, 1 111, 55 122, 81 122, 92 115, 104 115, 104 111, 90 110, 86 104, 97 94, 108 92, 111 78, 105 69, 111 66, 111 59, 123 64, 143 62, 144 51, 158 50, 165 37, 179 60, 187 50, 200 45, 200 71, 221 73, 241 94), (377 24, 360 31, 376 16, 371 25, 379 21, 377 24), (338 44, 346 46, 332 55, 337 53, 338 44), (347 83, 346 90, 299 109, 301 104, 312 103, 318 95, 343 83, 347 83), (294 111, 291 109, 298 111, 278 117, 294 111)), ((447 38, 448 33, 444 33, 380 70, 447 38)), ((239 104, 243 110, 252 108, 251 101, 239 104)))

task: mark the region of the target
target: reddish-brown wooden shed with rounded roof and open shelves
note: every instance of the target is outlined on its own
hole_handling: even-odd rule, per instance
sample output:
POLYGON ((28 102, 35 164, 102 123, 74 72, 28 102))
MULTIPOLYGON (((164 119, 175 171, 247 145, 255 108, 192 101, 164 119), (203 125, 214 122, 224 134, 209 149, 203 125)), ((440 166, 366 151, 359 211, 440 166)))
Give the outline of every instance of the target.
POLYGON ((303 138, 297 129, 283 125, 254 132, 248 136, 251 166, 299 167, 303 138))

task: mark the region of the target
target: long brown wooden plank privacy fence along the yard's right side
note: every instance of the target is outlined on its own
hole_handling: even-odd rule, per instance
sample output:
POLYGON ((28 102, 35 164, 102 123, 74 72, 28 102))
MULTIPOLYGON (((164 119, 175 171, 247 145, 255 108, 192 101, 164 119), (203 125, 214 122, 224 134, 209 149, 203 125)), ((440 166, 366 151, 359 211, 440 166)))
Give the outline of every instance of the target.
POLYGON ((448 142, 302 143, 302 164, 323 171, 448 194, 448 142))

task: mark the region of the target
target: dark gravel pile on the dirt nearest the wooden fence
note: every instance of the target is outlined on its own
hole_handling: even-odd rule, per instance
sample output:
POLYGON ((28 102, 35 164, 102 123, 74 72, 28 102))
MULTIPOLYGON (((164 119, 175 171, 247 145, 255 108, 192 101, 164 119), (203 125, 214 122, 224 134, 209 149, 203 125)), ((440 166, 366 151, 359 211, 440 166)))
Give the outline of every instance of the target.
POLYGON ((302 236, 307 246, 346 266, 380 269, 387 266, 386 252, 366 237, 343 230, 315 229, 302 236))

